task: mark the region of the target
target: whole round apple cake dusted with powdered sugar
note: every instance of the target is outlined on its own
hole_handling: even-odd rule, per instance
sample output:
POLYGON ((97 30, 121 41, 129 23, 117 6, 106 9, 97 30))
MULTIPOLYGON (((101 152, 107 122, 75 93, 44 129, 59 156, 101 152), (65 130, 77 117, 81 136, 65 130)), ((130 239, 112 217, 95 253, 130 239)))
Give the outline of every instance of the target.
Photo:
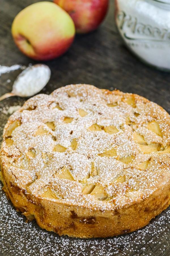
POLYGON ((59 235, 142 228, 170 205, 170 116, 136 94, 76 84, 30 98, 3 132, 14 207, 59 235))

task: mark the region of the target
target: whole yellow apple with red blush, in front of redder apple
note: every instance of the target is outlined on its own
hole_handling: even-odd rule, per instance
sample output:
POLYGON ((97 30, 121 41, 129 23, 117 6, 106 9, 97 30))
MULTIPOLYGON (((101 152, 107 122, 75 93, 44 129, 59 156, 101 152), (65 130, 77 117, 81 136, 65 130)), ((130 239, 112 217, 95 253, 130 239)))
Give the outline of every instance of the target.
POLYGON ((49 60, 65 53, 75 36, 71 17, 58 5, 38 2, 15 17, 12 36, 18 48, 35 60, 49 60))

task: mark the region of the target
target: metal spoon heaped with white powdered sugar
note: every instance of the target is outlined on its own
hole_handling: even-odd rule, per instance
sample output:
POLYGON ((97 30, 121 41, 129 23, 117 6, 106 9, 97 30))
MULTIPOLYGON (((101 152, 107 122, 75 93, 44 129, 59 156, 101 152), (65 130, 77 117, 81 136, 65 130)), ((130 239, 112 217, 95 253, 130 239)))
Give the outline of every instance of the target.
POLYGON ((44 64, 27 67, 18 75, 12 86, 12 92, 0 97, 0 101, 11 96, 30 97, 44 88, 51 76, 50 68, 44 64))

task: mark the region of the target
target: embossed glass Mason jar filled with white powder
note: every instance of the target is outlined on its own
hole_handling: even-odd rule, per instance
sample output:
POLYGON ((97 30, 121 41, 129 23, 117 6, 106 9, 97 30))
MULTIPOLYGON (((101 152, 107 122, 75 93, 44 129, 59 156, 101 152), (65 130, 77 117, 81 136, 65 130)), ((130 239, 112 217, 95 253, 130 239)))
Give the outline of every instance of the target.
POLYGON ((170 0, 115 0, 115 8, 128 48, 145 63, 170 71, 170 0))

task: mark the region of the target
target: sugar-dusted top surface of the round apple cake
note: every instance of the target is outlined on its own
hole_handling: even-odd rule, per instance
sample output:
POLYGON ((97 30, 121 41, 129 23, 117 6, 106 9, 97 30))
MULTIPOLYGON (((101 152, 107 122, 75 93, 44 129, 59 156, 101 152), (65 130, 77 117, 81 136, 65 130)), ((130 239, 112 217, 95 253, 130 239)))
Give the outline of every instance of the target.
POLYGON ((131 94, 108 94, 92 86, 66 86, 52 95, 29 99, 10 120, 21 121, 10 134, 12 145, 3 143, 3 161, 8 161, 6 154, 15 159, 12 166, 16 182, 20 180, 17 168, 20 172, 21 166, 29 171, 32 184, 25 184, 24 188, 36 196, 41 196, 50 182, 59 199, 114 209, 148 197, 170 176, 167 113, 152 102, 139 103, 131 94), (153 115, 156 124, 152 123, 153 115), (153 130, 153 125, 158 131, 153 130), (76 143, 75 148, 72 143, 76 143), (142 159, 141 155, 149 157, 142 159), (141 167, 145 161, 148 165, 141 167), (63 172, 69 172, 71 178, 60 181, 66 175, 63 172), (72 183, 72 192, 66 193, 67 184, 72 187, 72 183), (100 189, 101 198, 97 192, 85 193, 90 184, 100 189))

